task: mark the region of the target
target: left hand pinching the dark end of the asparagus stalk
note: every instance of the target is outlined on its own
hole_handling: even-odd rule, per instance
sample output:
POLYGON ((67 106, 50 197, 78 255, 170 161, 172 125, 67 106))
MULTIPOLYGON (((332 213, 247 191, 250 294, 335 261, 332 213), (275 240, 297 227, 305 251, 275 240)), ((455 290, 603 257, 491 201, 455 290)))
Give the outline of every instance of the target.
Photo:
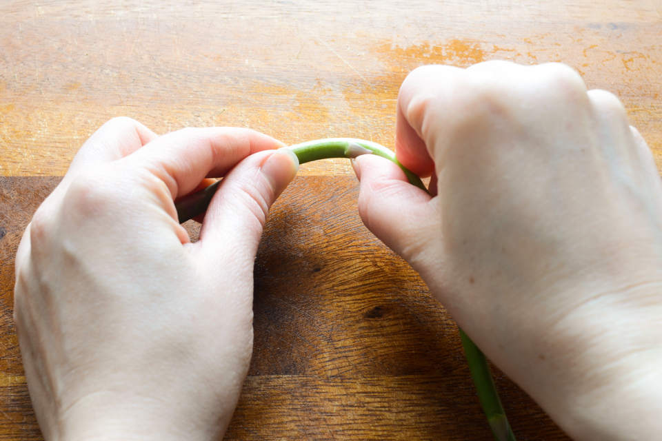
POLYGON ((46 440, 211 440, 250 363, 253 264, 296 156, 251 130, 113 119, 17 252, 14 322, 46 440), (250 156, 249 156, 250 155, 250 156), (173 200, 223 178, 190 243, 173 200))

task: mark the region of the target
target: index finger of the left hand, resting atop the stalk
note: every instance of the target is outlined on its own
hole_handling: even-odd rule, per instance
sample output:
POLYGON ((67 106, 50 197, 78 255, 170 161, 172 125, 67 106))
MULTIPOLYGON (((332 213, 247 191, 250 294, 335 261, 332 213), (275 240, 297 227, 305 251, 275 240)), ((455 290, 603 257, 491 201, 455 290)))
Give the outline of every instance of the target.
POLYGON ((160 136, 126 161, 157 176, 174 200, 192 192, 204 178, 224 176, 246 156, 283 146, 254 130, 187 128, 160 136))

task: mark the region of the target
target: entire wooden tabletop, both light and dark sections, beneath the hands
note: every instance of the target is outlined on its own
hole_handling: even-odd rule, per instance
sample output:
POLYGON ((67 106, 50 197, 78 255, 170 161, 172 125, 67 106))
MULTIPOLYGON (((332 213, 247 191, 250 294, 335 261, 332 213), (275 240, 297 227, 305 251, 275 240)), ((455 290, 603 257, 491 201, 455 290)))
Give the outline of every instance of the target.
MULTIPOLYGON (((97 127, 124 115, 157 133, 234 125, 391 146, 407 72, 490 59, 572 65, 620 96, 662 165, 659 0, 0 3, 0 440, 41 439, 12 323, 14 254, 97 127)), ((457 327, 356 200, 348 162, 330 160, 302 166, 274 205, 226 439, 492 439, 457 327)), ((568 439, 495 376, 519 440, 568 439)))

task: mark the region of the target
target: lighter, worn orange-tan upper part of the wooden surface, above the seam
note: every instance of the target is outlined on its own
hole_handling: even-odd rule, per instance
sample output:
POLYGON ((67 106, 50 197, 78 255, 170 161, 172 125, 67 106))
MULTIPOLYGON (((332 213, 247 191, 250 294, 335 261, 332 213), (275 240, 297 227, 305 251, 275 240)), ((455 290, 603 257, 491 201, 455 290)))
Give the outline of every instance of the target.
POLYGON ((391 146, 407 72, 490 59, 568 63, 623 100, 662 165, 660 41, 659 0, 3 1, 0 174, 63 175, 112 116, 391 146))

